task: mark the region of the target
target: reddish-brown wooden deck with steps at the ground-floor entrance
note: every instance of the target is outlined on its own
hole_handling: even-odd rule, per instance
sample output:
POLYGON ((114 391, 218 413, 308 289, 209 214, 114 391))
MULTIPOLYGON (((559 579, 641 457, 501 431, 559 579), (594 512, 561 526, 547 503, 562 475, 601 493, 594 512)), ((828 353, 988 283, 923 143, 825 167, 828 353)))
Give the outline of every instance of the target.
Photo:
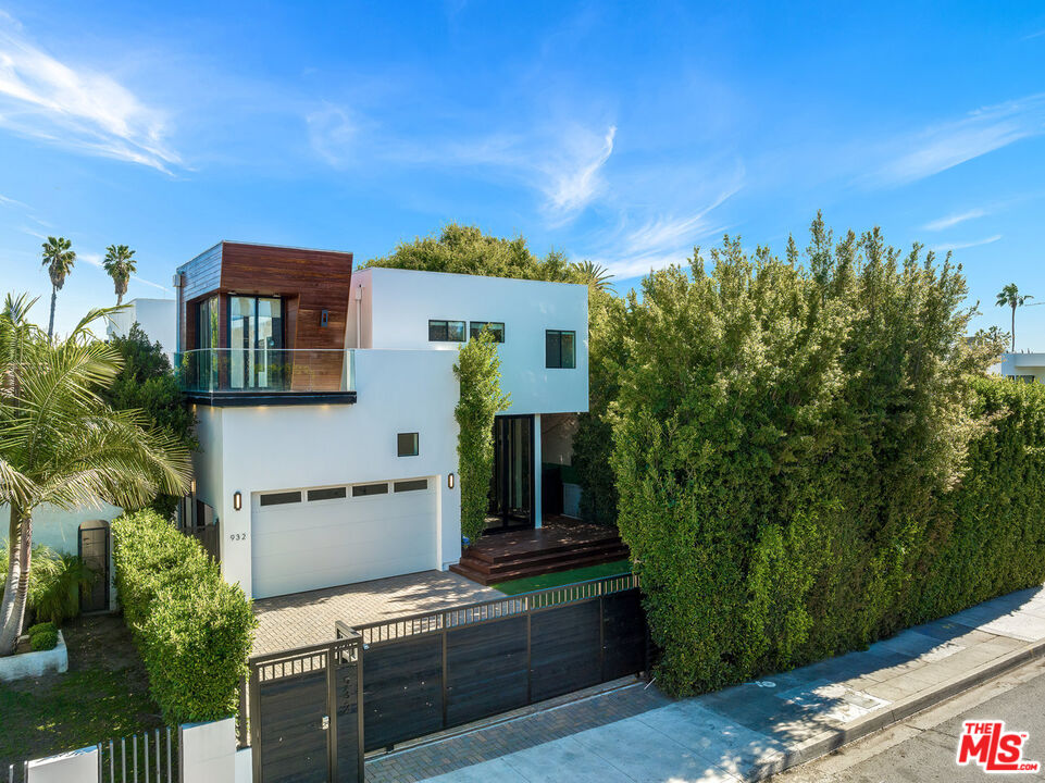
POLYGON ((490 585, 627 557, 627 546, 615 529, 556 521, 537 530, 485 535, 464 550, 450 571, 490 585))

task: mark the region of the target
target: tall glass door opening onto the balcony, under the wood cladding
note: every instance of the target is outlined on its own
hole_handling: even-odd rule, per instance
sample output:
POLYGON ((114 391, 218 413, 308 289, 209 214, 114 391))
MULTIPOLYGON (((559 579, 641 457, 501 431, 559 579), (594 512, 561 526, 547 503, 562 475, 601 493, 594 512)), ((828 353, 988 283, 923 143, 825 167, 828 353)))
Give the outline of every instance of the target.
POLYGON ((290 373, 284 366, 283 300, 229 297, 228 347, 232 388, 284 388, 290 373))

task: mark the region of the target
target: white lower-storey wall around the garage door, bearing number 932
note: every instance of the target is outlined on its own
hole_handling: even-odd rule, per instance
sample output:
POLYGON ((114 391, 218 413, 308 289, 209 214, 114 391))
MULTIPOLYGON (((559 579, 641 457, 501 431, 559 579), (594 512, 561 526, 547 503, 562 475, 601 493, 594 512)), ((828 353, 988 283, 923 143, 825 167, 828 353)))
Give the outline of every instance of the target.
POLYGON ((197 495, 217 513, 226 580, 251 595, 251 493, 416 476, 436 477, 439 546, 431 567, 457 562, 460 485, 448 489, 446 482, 457 472, 455 358, 448 351, 357 351, 354 405, 199 406, 197 495), (400 432, 420 434, 419 456, 397 456, 400 432), (234 540, 237 534, 246 537, 234 540))

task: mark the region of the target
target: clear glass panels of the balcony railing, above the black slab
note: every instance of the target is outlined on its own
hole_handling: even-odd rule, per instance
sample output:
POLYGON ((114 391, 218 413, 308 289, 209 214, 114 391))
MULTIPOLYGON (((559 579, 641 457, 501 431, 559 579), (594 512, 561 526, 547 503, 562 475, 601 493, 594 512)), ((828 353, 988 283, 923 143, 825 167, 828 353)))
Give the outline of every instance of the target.
POLYGON ((201 348, 174 358, 185 391, 354 391, 356 355, 339 349, 201 348))

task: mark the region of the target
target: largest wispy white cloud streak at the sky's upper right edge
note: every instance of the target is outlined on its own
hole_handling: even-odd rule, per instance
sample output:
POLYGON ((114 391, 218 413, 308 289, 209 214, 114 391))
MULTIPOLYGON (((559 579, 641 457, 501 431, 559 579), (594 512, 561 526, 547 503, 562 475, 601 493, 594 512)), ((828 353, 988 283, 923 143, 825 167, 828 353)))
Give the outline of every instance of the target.
POLYGON ((1045 94, 984 107, 899 139, 899 149, 868 182, 876 186, 916 182, 1043 133, 1045 94))

